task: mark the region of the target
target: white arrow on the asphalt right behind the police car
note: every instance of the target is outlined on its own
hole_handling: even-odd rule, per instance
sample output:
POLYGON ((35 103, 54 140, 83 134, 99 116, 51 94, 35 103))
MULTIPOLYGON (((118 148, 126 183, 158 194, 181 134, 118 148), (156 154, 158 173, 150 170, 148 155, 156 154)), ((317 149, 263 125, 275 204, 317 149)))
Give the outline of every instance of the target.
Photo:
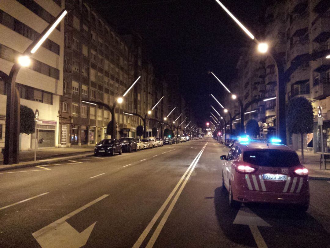
POLYGON ((267 248, 265 240, 262 238, 261 233, 258 229, 259 227, 271 227, 266 221, 261 217, 256 215, 252 210, 247 207, 241 207, 238 211, 233 224, 248 225, 253 235, 253 238, 257 244, 258 248, 267 248))

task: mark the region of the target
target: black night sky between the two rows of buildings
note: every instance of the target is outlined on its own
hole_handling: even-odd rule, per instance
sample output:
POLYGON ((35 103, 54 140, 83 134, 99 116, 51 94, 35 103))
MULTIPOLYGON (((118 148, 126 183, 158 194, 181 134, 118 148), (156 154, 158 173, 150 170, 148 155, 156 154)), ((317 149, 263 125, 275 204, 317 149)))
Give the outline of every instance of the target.
MULTIPOLYGON (((209 94, 226 94, 215 78, 228 83, 235 74, 240 48, 253 43, 215 0, 93 0, 94 8, 117 28, 134 29, 144 39, 156 76, 178 75, 184 98, 204 123, 209 94)), ((222 0, 256 33, 258 13, 269 0, 222 0)))

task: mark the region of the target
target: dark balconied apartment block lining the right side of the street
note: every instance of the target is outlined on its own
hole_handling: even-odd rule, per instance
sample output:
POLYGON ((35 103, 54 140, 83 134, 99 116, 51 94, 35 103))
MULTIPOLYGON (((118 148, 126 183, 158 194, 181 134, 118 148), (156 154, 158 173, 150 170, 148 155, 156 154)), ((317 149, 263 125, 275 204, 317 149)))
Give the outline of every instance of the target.
MULTIPOLYGON (((260 25, 260 30, 263 30, 261 37, 283 58, 284 70, 288 72, 286 101, 303 96, 312 102, 315 110, 317 106, 323 107, 326 151, 330 151, 330 114, 327 114, 330 110, 327 108, 330 104, 327 104, 330 101, 330 59, 326 59, 324 54, 330 54, 329 13, 330 2, 325 0, 279 1, 263 13, 265 26, 260 25), (310 56, 312 59, 309 59, 310 56), (298 65, 297 61, 300 61, 298 65)), ((257 97, 276 96, 277 71, 270 57, 257 55, 252 46, 242 53, 237 67, 239 76, 235 83, 241 86, 241 97, 245 104, 257 97)), ((246 116, 245 121, 257 119, 261 136, 274 134, 276 100, 258 101, 256 104, 251 104, 248 110, 257 112, 246 116)), ((316 116, 317 111, 314 114, 316 116)), ((288 145, 301 149, 300 135, 288 135, 288 145)), ((305 137, 304 149, 320 151, 317 118, 313 134, 305 137)))

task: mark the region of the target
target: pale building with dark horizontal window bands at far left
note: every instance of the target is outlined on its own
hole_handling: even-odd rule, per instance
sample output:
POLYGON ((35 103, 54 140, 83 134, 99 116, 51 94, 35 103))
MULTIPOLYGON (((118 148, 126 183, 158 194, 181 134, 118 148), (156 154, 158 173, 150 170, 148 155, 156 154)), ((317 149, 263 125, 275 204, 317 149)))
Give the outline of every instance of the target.
MULTIPOLYGON (((0 1, 0 147, 5 141, 6 87, 9 72, 18 56, 65 7, 64 0, 0 1)), ((16 78, 20 104, 38 110, 36 132, 20 134, 21 150, 59 146, 59 106, 63 94, 64 22, 31 56, 16 78), (37 142, 36 142, 37 141, 37 142), (35 147, 37 144, 37 147, 35 147)))

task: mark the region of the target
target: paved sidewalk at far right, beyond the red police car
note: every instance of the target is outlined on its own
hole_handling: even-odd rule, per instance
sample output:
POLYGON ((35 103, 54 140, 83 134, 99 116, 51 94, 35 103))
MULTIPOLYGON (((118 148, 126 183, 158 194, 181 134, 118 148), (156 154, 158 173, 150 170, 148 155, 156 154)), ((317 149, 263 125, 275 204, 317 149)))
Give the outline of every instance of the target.
MULTIPOLYGON (((301 151, 296 151, 300 161, 301 151)), ((329 180, 330 181, 330 161, 327 162, 327 170, 320 170, 321 153, 304 152, 305 162, 302 163, 309 170, 309 178, 314 180, 329 180)))

